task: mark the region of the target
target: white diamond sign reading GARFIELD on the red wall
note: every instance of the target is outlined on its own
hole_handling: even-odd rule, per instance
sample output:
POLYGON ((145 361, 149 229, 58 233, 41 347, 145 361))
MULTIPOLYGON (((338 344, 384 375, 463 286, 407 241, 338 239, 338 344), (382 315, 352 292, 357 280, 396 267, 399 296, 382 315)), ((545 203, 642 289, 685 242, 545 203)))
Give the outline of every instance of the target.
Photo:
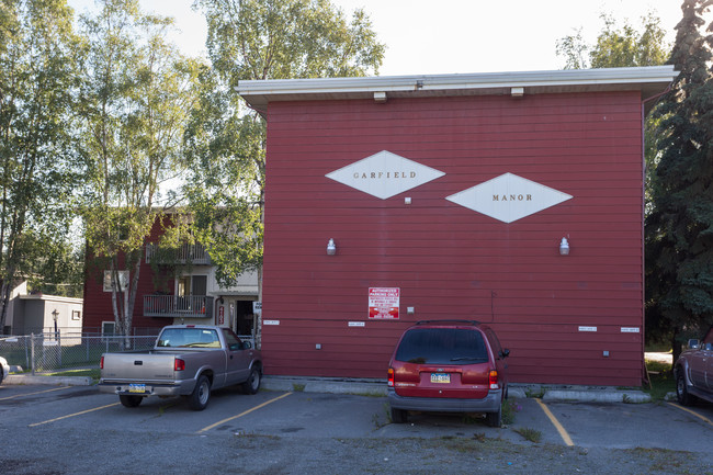
POLYGON ((325 177, 386 200, 444 174, 431 167, 382 150, 325 177))

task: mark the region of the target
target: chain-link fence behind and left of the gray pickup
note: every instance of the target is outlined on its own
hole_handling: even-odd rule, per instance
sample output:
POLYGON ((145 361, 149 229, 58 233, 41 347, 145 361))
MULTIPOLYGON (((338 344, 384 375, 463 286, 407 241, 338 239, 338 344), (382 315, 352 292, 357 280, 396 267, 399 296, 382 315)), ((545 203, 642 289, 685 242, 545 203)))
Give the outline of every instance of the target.
POLYGON ((99 367, 102 353, 148 350, 156 336, 117 337, 86 333, 44 332, 22 337, 0 337, 0 355, 11 366, 32 374, 58 370, 99 367))

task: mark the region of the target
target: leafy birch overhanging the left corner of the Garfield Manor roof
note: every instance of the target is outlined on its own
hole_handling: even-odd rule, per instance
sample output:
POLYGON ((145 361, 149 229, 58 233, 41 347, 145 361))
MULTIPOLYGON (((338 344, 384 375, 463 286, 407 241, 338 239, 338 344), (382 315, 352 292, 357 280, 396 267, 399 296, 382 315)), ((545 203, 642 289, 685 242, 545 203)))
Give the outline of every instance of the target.
MULTIPOLYGON (((197 0, 212 69, 186 133, 194 235, 228 287, 260 272, 265 123, 235 92, 240 80, 365 76, 384 56, 363 10, 350 19, 327 0, 197 0)), ((262 111, 264 112, 264 111, 262 111)))

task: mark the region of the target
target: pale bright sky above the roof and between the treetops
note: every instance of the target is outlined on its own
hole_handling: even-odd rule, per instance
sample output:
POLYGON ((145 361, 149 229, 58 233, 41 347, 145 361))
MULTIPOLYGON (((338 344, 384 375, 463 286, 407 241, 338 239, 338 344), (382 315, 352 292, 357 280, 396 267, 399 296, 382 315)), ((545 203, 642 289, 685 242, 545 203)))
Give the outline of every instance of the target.
MULTIPOLYGON (((638 27, 656 13, 675 39, 682 0, 331 0, 344 13, 363 8, 387 47, 381 76, 503 72, 562 69, 557 39, 581 27, 593 43, 600 13, 638 27)), ((172 41, 190 56, 205 55, 205 21, 192 0, 139 0, 145 12, 176 19, 172 41)), ((93 0, 68 0, 76 12, 93 0)), ((706 16, 710 22, 711 15, 706 16)))

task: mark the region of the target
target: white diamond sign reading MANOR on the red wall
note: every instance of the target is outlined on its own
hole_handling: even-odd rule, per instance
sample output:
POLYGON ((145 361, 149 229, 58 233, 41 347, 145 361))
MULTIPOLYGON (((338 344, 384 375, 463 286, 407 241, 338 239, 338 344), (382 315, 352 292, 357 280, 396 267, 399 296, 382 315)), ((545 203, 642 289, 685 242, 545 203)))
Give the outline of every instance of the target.
POLYGON ((571 197, 544 184, 505 173, 446 196, 446 200, 503 223, 512 223, 571 197))

